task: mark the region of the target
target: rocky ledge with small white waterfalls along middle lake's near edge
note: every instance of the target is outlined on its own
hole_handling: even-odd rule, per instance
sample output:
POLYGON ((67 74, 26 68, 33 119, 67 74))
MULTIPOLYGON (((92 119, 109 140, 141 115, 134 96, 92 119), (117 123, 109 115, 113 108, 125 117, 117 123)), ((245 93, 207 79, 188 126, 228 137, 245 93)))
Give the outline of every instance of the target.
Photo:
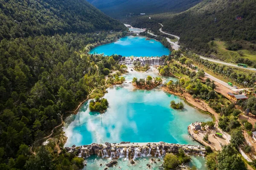
POLYGON ((180 145, 180 144, 169 144, 165 142, 157 143, 131 143, 131 142, 120 142, 120 143, 108 143, 105 144, 89 144, 78 146, 73 145, 72 147, 65 147, 68 152, 73 152, 79 157, 89 157, 91 155, 97 155, 99 157, 108 158, 122 158, 135 159, 137 157, 154 156, 162 157, 166 153, 178 153, 178 150, 182 148, 185 153, 204 156, 206 151, 204 146, 196 145, 180 145))

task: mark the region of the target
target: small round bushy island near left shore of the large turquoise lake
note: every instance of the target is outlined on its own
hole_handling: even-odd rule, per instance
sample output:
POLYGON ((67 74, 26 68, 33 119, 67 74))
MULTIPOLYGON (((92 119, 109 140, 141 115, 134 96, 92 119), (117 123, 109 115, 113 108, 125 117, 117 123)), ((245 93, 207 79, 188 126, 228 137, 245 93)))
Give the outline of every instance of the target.
POLYGON ((108 100, 105 98, 99 98, 99 96, 96 96, 95 101, 91 100, 89 104, 89 109, 91 112, 104 113, 107 108, 108 100))

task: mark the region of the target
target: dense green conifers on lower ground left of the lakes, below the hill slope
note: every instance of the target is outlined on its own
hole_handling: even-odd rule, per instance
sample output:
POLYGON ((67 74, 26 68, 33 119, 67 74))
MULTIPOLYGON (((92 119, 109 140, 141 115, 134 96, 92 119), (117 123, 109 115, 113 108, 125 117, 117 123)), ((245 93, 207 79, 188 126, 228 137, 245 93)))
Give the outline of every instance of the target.
POLYGON ((20 147, 46 136, 61 123, 61 115, 105 85, 104 73, 116 68, 116 60, 109 63, 109 57, 80 54, 79 49, 113 41, 107 36, 71 33, 0 42, 0 164, 14 158, 22 169, 29 155, 19 153, 20 147))

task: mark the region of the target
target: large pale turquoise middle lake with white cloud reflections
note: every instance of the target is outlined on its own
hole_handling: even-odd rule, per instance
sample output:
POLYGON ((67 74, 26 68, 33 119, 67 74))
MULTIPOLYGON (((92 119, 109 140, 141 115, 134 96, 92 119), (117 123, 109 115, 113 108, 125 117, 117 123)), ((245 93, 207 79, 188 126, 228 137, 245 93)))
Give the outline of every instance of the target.
MULTIPOLYGON (((129 71, 125 79, 147 75, 157 76, 154 72, 129 71)), ((202 114, 178 96, 158 87, 150 91, 139 90, 127 81, 107 91, 104 98, 108 99, 109 107, 104 114, 90 112, 89 102, 86 102, 79 114, 71 115, 66 120, 69 123, 64 127, 68 137, 65 146, 121 141, 198 144, 189 138, 188 125, 195 121, 212 121, 209 115, 202 114), (172 100, 183 102, 184 109, 172 109, 172 100)))

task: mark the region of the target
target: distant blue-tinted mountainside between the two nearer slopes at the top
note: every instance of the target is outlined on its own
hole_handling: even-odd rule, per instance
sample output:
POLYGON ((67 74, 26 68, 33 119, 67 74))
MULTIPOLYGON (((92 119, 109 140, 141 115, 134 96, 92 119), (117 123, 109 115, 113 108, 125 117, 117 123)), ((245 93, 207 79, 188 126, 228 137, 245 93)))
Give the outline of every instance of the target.
POLYGON ((156 14, 163 12, 181 12, 201 0, 88 0, 105 14, 117 18, 140 15, 140 13, 156 14))

